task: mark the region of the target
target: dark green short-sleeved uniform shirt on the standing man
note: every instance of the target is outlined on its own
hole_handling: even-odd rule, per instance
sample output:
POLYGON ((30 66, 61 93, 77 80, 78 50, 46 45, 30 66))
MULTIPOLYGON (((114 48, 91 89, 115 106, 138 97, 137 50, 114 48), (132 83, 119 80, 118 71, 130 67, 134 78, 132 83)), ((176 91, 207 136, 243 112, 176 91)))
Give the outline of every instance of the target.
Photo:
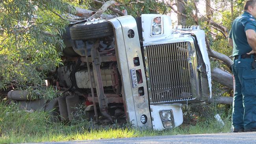
POLYGON ((230 30, 229 38, 233 40, 233 56, 246 54, 252 50, 245 34, 245 31, 250 29, 256 32, 256 21, 250 13, 245 11, 233 21, 230 30))

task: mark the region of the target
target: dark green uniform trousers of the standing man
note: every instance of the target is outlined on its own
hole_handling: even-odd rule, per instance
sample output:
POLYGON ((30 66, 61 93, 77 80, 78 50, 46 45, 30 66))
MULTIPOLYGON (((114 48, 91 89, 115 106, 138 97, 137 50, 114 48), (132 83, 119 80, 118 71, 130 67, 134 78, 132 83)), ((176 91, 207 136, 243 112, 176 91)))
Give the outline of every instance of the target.
POLYGON ((232 124, 234 129, 256 127, 256 69, 252 70, 253 58, 233 61, 235 78, 232 124))

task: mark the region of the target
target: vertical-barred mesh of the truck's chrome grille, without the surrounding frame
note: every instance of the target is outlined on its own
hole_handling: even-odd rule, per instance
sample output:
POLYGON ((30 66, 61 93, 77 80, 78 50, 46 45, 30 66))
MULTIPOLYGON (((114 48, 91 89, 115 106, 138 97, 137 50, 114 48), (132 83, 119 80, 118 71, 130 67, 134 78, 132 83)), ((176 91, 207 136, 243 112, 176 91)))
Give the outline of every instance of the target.
POLYGON ((187 42, 146 46, 150 103, 191 99, 187 42))

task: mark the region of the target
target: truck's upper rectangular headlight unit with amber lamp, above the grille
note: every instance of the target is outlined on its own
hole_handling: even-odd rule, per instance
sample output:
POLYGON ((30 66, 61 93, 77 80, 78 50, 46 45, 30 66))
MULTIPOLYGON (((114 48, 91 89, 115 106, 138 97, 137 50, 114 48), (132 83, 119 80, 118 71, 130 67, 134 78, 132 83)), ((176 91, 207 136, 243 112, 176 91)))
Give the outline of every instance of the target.
POLYGON ((163 34, 163 21, 162 17, 154 17, 151 24, 151 36, 163 34))

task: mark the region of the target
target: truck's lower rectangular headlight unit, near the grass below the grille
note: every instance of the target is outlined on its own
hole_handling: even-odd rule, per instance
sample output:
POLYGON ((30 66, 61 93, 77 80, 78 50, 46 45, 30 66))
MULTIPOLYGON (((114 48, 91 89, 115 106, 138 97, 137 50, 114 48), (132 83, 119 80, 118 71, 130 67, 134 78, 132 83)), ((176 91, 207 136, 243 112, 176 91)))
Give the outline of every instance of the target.
POLYGON ((175 127, 173 110, 169 109, 169 110, 159 111, 159 114, 163 123, 163 127, 165 127, 166 129, 175 127))

